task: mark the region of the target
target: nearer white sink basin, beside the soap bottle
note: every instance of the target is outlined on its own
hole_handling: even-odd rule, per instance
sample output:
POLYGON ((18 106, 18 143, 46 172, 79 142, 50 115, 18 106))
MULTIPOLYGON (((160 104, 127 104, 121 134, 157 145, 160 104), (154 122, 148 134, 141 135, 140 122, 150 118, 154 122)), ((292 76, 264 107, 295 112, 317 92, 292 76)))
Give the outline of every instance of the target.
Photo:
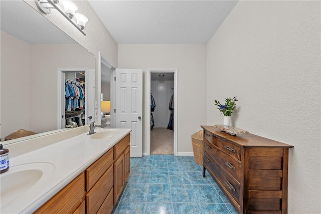
POLYGON ((0 176, 1 207, 32 189, 35 184, 46 180, 54 170, 53 164, 45 162, 11 166, 0 176))

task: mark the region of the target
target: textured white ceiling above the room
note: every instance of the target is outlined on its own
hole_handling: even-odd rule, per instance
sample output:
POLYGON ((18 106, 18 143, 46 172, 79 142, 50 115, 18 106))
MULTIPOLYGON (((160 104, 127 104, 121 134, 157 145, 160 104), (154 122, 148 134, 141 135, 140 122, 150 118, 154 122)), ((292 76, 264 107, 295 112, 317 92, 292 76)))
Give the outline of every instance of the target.
POLYGON ((207 44, 237 3, 88 2, 118 44, 207 44))

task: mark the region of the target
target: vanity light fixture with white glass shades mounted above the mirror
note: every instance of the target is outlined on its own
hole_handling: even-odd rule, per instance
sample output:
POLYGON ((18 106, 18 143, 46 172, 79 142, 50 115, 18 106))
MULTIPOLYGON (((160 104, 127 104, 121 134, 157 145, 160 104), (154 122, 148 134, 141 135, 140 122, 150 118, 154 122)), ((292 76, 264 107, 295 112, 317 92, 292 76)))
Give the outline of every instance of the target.
POLYGON ((37 7, 45 14, 50 14, 51 9, 56 9, 60 14, 62 14, 73 26, 75 26, 83 35, 86 22, 88 18, 82 14, 75 13, 78 10, 78 6, 71 0, 61 0, 64 12, 58 7, 59 0, 35 0, 37 7), (75 17, 77 24, 73 21, 75 17))

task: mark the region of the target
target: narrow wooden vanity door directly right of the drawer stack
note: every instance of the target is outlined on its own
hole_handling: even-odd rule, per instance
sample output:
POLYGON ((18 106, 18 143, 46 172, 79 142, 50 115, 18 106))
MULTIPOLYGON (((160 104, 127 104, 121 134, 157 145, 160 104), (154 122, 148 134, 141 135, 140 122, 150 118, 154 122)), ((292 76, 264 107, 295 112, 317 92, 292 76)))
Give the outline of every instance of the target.
POLYGON ((120 155, 114 163, 114 205, 118 200, 118 197, 124 188, 124 176, 125 176, 125 161, 124 154, 120 155))

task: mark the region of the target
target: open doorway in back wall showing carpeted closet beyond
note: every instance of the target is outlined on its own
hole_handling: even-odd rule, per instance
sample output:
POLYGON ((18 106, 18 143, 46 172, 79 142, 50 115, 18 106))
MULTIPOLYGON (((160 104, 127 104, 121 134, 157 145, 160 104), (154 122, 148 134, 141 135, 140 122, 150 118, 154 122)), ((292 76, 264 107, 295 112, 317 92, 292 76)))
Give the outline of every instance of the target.
POLYGON ((177 155, 177 69, 149 74, 149 154, 177 155))

